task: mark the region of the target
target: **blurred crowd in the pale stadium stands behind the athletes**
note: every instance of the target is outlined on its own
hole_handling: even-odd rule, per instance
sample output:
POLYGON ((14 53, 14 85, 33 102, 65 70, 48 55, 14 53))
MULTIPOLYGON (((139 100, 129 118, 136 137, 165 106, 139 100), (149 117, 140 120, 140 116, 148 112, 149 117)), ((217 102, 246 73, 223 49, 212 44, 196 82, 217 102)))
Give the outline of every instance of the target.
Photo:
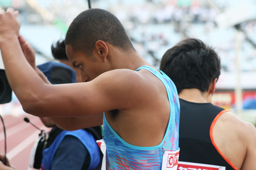
MULTIPOLYGON (((247 1, 256 6, 255 0, 247 1)), ((87 0, 3 2, 0 1, 3 9, 11 5, 20 10, 21 32, 36 49, 37 58, 43 58, 43 61, 53 60, 51 44, 64 39, 65 30, 75 16, 88 9, 87 0)), ((240 0, 91 0, 92 8, 105 9, 117 16, 136 50, 153 66, 159 67, 164 52, 189 37, 215 47, 221 57, 222 72, 230 73, 236 72, 237 29, 219 27, 215 20, 221 11, 239 3, 240 0)), ((256 20, 246 21, 240 26, 250 40, 242 35, 241 70, 256 72, 256 20)))

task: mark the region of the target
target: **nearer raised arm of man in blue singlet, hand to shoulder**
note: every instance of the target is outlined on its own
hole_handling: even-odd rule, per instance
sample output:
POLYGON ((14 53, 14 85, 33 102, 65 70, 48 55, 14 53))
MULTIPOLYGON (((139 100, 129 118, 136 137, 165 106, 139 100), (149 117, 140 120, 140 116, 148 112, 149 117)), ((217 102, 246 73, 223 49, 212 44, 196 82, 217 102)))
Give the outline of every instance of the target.
POLYGON ((140 95, 143 89, 138 90, 138 86, 144 85, 141 77, 127 69, 105 72, 86 83, 45 83, 24 57, 18 41, 18 29, 13 11, 0 15, 0 48, 6 74, 27 113, 40 117, 91 116, 109 110, 128 109, 138 100, 143 100, 140 95))

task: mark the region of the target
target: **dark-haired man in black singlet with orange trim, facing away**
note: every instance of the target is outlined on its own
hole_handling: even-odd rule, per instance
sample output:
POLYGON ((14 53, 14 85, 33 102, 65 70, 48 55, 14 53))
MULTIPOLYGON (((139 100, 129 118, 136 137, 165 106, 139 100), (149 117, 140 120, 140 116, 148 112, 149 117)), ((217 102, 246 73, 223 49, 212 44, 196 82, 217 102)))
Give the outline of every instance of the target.
POLYGON ((179 161, 226 170, 256 169, 255 127, 211 104, 221 74, 216 52, 198 39, 186 39, 166 51, 160 70, 173 80, 179 94, 179 161))

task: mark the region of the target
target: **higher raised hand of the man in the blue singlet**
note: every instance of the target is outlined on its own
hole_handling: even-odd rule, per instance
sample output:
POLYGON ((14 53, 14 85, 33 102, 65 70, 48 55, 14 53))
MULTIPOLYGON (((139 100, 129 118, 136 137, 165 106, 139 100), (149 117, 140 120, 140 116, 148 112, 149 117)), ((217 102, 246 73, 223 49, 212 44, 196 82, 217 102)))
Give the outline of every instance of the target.
POLYGON ((19 36, 20 23, 17 20, 19 11, 8 8, 6 12, 0 11, 0 40, 10 36, 19 36))

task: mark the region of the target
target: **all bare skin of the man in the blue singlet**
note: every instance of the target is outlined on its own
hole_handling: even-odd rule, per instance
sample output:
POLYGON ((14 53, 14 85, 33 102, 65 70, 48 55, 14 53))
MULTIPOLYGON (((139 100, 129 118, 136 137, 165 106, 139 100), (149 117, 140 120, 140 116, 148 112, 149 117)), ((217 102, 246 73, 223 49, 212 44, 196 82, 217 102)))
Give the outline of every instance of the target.
POLYGON ((97 41, 93 56, 85 56, 67 45, 68 58, 80 67, 83 83, 51 85, 24 57, 19 27, 13 10, 0 14, 6 74, 26 112, 52 117, 68 130, 101 125, 105 112, 111 127, 127 143, 145 147, 161 143, 170 116, 166 89, 149 71, 134 71, 150 66, 136 51, 124 52, 97 41), (118 110, 115 119, 110 110, 118 110))

